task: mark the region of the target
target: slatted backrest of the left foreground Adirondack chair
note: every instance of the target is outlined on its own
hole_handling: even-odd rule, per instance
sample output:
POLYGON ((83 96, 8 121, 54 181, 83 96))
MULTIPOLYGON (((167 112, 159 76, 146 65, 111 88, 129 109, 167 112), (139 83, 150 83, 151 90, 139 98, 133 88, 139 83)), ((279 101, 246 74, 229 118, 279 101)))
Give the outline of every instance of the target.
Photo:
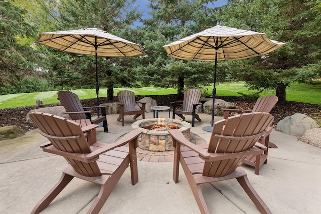
MULTIPOLYGON (((86 137, 78 123, 63 117, 41 112, 31 113, 30 118, 38 126, 40 134, 47 137, 56 149, 71 154, 91 153, 86 137)), ((81 175, 90 177, 101 175, 96 161, 87 163, 74 159, 72 155, 64 157, 81 175)))

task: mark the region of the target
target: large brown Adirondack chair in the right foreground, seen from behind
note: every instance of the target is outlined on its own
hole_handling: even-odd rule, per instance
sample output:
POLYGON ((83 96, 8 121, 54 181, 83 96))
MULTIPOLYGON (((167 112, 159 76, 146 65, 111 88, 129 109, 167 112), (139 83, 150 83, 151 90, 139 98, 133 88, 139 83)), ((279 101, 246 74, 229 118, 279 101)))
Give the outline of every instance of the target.
POLYGON ((216 122, 209 144, 195 145, 178 130, 169 130, 174 138, 174 182, 179 179, 179 163, 184 169, 201 213, 210 213, 201 184, 236 178, 262 213, 271 213, 239 166, 247 155, 260 155, 263 146, 257 140, 273 121, 269 113, 245 113, 216 122), (259 147, 257 147, 259 146, 259 147))

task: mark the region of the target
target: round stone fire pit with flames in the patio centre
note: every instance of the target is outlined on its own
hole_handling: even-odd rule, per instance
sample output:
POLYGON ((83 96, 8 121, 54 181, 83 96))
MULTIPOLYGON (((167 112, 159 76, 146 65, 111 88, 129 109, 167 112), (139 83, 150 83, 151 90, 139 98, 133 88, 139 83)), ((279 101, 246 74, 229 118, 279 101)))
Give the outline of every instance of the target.
POLYGON ((191 124, 178 119, 148 118, 134 122, 131 127, 139 129, 142 134, 138 138, 138 147, 149 151, 172 151, 173 138, 167 130, 157 130, 157 124, 167 124, 180 130, 186 139, 190 139, 191 124), (163 122, 164 121, 164 122, 163 122))

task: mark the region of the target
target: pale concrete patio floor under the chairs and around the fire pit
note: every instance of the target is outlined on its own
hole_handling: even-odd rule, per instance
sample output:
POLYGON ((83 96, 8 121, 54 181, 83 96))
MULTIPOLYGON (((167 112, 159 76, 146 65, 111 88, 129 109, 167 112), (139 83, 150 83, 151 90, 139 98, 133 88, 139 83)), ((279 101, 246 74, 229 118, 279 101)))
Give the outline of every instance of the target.
MULTIPOLYGON (((166 117, 168 112, 159 115, 166 117)), ((131 130, 134 120, 125 116, 122 127, 117 116, 107 115, 109 133, 98 128, 98 141, 112 143, 131 130)), ((151 117, 146 113, 146 118, 151 117)), ((211 116, 200 114, 200 118, 202 122, 196 121, 191 132, 208 142, 211 133, 202 127, 210 125, 211 116)), ((191 122, 192 117, 186 120, 191 122)), ((32 130, 0 142, 0 213, 30 213, 60 178, 67 162, 43 152, 39 145, 46 141, 32 130)), ((268 163, 259 175, 242 164, 255 190, 272 213, 320 213, 321 149, 275 130, 270 141, 278 148, 269 149, 268 163)), ((183 170, 177 184, 172 173, 173 162, 138 161, 139 182, 131 185, 126 169, 100 213, 200 213, 183 170)), ((42 213, 86 213, 98 191, 98 185, 75 178, 42 213)), ((235 179, 205 184, 203 192, 212 213, 259 213, 235 179)))

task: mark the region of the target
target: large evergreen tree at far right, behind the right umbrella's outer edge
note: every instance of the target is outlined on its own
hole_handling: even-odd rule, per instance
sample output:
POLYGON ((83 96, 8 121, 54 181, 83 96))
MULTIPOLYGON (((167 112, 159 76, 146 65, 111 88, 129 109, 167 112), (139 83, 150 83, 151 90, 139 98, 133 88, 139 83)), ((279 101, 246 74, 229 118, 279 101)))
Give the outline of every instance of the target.
POLYGON ((304 0, 229 0, 215 14, 222 25, 263 32, 286 43, 264 57, 230 62, 232 76, 246 81, 249 89, 276 89, 280 101, 285 101, 286 86, 320 77, 321 20, 314 6, 304 0))

